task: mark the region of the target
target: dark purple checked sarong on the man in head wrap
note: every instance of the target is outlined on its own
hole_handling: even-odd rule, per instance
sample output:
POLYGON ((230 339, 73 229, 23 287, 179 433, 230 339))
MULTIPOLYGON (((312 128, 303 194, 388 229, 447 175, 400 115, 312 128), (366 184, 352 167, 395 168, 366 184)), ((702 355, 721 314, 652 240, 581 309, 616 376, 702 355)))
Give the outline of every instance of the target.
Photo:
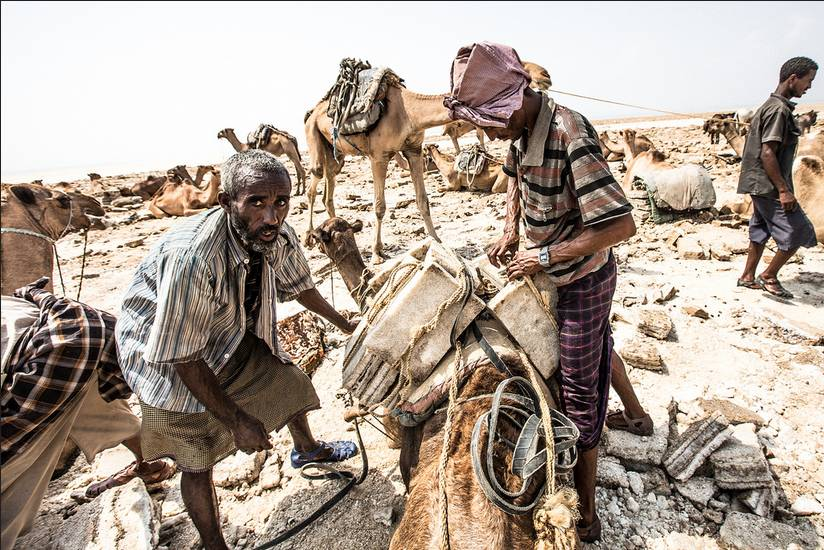
POLYGON ((594 273, 558 287, 561 408, 581 431, 578 448, 598 445, 609 398, 612 331, 609 312, 617 268, 612 253, 594 273))

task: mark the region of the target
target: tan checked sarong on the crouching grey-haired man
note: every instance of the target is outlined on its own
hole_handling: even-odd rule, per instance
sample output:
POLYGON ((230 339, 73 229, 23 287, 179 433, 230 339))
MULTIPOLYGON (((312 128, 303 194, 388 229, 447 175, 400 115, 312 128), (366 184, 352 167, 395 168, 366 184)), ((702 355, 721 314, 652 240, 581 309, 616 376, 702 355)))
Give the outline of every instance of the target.
MULTIPOLYGON (((309 377, 272 355, 266 343, 249 332, 217 379, 229 399, 263 422, 270 433, 297 415, 320 408, 309 377)), ((232 432, 209 411, 166 411, 143 401, 140 408, 140 443, 146 460, 169 457, 179 470, 205 472, 237 451, 232 432)))

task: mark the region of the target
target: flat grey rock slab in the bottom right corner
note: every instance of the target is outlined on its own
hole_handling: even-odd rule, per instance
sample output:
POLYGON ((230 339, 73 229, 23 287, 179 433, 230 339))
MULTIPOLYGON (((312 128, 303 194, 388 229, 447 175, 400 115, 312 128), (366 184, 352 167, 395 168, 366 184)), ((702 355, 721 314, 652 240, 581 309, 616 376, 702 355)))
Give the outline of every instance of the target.
POLYGON ((728 550, 772 550, 791 544, 815 548, 815 534, 751 514, 731 512, 719 532, 721 547, 728 550))

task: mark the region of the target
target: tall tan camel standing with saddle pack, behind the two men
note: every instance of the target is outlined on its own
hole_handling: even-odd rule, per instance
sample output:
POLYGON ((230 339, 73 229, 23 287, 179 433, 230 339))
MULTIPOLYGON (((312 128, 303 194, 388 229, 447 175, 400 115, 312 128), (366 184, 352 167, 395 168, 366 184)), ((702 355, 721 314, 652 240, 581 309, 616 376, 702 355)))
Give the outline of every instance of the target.
POLYGON ((372 165, 372 180, 375 189, 375 241, 372 245, 372 261, 383 261, 383 241, 381 228, 383 216, 386 214, 386 171, 389 161, 395 153, 402 153, 409 162, 412 184, 415 188, 415 202, 423 217, 426 230, 433 238, 438 239, 432 216, 429 213, 429 199, 426 196, 426 187, 423 181, 423 138, 424 131, 434 126, 442 126, 450 121, 446 108, 443 106, 444 95, 422 95, 411 92, 399 83, 387 86, 386 109, 377 124, 368 132, 341 136, 337 139, 335 148, 332 145, 332 120, 327 115, 329 100, 318 103, 305 119, 306 141, 312 157, 309 172, 312 181, 309 184, 309 230, 306 241, 313 229, 313 214, 315 197, 317 196, 318 182, 323 179, 324 204, 330 217, 335 215, 334 193, 335 176, 343 168, 346 155, 362 155, 369 157, 372 165))

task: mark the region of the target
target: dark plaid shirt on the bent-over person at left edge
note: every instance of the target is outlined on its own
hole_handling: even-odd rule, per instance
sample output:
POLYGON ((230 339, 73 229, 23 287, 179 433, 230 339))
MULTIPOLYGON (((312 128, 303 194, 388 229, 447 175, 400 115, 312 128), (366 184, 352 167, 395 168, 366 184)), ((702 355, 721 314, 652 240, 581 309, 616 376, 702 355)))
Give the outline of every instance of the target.
MULTIPOLYGON (((44 284, 46 279, 38 281, 44 284)), ((87 305, 23 287, 15 296, 39 308, 34 323, 12 347, 0 389, 0 463, 23 452, 38 433, 59 418, 97 369, 106 401, 131 395, 117 363, 115 318, 87 305)))

